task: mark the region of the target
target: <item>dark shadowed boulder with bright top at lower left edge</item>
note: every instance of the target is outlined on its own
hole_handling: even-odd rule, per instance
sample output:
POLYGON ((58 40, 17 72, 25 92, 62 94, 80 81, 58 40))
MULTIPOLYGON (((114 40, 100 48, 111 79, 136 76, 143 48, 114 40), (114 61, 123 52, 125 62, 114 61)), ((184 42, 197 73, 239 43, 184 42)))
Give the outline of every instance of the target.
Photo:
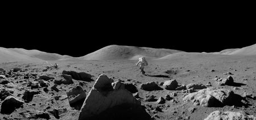
POLYGON ((11 114, 14 112, 16 108, 20 108, 24 102, 18 100, 13 96, 8 96, 1 104, 1 112, 2 114, 11 114))

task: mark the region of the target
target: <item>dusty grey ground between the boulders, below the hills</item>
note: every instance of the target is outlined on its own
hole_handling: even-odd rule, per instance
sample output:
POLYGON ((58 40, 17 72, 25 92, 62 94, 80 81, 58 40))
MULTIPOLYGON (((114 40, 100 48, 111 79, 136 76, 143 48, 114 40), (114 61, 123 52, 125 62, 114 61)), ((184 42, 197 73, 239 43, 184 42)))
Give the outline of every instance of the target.
MULTIPOLYGON (((186 53, 189 54, 189 53, 186 53)), ((34 82, 34 78, 24 79, 26 74, 47 74, 53 76, 55 79, 59 79, 63 70, 73 70, 77 72, 86 72, 93 75, 93 79, 96 80, 99 74, 108 75, 109 78, 116 80, 123 80, 125 82, 135 83, 138 88, 139 96, 142 98, 142 105, 146 107, 146 111, 155 119, 204 119, 215 110, 221 111, 233 111, 238 112, 242 110, 247 114, 256 116, 256 102, 253 99, 247 99, 249 106, 232 107, 224 106, 223 108, 205 108, 203 106, 195 106, 190 103, 185 104, 182 101, 184 95, 181 91, 168 91, 166 89, 159 91, 144 91, 139 89, 141 83, 146 82, 164 82, 170 79, 176 79, 181 84, 189 83, 212 83, 213 87, 231 89, 238 95, 242 95, 244 92, 252 93, 256 96, 256 56, 238 56, 238 55, 213 55, 213 54, 180 54, 168 59, 148 61, 149 66, 145 68, 146 76, 139 73, 139 69, 135 66, 137 61, 48 61, 49 63, 57 63, 59 68, 48 70, 43 72, 42 70, 49 65, 46 62, 13 62, 13 63, 1 63, 0 68, 6 71, 12 70, 15 67, 20 67, 25 70, 24 72, 18 72, 19 76, 14 78, 7 78, 11 83, 2 85, 1 88, 9 88, 14 90, 14 97, 19 100, 23 100, 22 96, 27 87, 28 82, 34 82), (171 74, 166 74, 165 71, 171 70, 171 74), (211 71, 214 70, 214 71, 211 71), (220 78, 226 78, 228 75, 224 75, 226 72, 232 72, 231 75, 234 78, 234 82, 238 83, 237 86, 220 86, 217 85, 213 78, 216 76, 220 78), (238 89, 234 90, 234 87, 238 89), (146 95, 155 95, 156 98, 165 97, 172 92, 176 92, 177 96, 174 97, 176 102, 166 101, 163 105, 157 105, 156 102, 145 102, 146 95), (21 94, 21 95, 19 95, 21 94), (163 112, 156 112, 154 108, 160 106, 163 112), (194 112, 189 112, 188 108, 196 108, 194 112)), ((68 104, 68 99, 65 98, 66 92, 75 87, 76 85, 82 85, 82 88, 86 91, 86 94, 90 91, 90 88, 94 82, 81 82, 73 80, 75 83, 71 85, 58 85, 57 88, 60 92, 52 91, 53 80, 49 81, 49 92, 44 92, 43 88, 38 88, 41 93, 35 95, 31 102, 23 104, 23 108, 16 109, 10 115, 0 114, 0 119, 26 119, 26 115, 32 115, 38 111, 47 112, 52 109, 58 109, 60 112, 60 119, 76 119, 79 115, 79 111, 73 109, 68 104), (55 96, 63 96, 64 100, 55 100, 55 96)), ((163 88, 163 86, 160 85, 163 88)), ((0 100, 0 104, 2 101, 0 100)), ((56 119, 51 113, 49 113, 51 119, 56 119)))

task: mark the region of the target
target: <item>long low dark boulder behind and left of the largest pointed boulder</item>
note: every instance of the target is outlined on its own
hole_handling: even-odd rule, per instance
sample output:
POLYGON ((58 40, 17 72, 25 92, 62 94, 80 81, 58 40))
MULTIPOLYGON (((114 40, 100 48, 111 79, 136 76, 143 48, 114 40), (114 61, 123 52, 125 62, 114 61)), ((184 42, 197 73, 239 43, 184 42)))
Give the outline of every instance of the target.
POLYGON ((62 74, 71 75, 75 80, 82 80, 85 82, 92 82, 92 75, 87 74, 85 72, 76 72, 76 71, 63 71, 62 74))

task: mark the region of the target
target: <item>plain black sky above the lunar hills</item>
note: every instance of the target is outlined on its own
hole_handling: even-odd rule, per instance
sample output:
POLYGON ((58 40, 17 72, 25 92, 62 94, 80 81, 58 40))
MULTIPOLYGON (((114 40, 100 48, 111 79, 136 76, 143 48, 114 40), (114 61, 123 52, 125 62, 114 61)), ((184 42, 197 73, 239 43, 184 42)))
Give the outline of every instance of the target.
POLYGON ((250 8, 21 10, 2 17, 1 47, 80 57, 107 45, 218 52, 256 44, 250 8))

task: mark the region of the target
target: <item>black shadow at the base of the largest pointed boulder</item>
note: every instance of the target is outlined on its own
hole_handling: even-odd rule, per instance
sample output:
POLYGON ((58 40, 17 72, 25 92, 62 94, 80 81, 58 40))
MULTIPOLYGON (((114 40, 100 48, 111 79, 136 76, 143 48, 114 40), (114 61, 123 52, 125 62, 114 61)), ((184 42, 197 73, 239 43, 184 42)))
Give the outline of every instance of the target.
POLYGON ((122 104, 106 109, 104 112, 94 115, 88 119, 112 119, 112 120, 135 120, 135 119, 151 119, 142 105, 122 104))

